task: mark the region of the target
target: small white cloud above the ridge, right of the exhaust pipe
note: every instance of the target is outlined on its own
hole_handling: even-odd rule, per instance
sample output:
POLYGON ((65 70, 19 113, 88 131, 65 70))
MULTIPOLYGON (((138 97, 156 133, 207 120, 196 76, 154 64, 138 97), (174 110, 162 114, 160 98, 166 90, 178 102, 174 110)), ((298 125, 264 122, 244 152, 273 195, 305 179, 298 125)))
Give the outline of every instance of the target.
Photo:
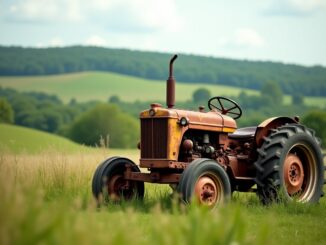
POLYGON ((261 47, 264 43, 264 38, 253 29, 243 28, 235 32, 235 44, 238 46, 261 47))

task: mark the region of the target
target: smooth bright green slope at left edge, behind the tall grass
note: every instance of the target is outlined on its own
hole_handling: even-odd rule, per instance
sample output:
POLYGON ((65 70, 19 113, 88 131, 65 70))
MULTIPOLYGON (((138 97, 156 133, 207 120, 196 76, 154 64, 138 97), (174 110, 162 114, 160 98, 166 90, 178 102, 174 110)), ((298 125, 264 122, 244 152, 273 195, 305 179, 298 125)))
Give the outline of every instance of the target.
POLYGON ((54 134, 20 126, 0 124, 0 152, 37 153, 44 150, 68 153, 91 149, 54 134))

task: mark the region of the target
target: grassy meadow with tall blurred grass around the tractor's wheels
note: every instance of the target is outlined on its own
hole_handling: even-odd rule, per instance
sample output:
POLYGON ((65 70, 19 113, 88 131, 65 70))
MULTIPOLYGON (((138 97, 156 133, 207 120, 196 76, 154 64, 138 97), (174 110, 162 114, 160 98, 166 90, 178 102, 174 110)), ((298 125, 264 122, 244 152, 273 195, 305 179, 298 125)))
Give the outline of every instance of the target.
POLYGON ((114 155, 137 162, 138 150, 13 147, 0 150, 0 244, 326 243, 326 198, 263 206, 254 194, 235 192, 209 211, 183 205, 167 185, 146 184, 143 201, 98 207, 91 193, 97 165, 114 155))

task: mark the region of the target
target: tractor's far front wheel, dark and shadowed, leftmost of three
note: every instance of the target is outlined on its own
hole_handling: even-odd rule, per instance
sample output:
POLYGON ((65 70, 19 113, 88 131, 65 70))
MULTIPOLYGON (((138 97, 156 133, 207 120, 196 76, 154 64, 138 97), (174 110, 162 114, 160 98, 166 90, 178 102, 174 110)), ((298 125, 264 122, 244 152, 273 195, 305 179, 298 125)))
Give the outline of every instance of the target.
POLYGON ((131 166, 132 171, 140 172, 133 161, 122 157, 108 158, 97 167, 93 176, 92 191, 98 202, 144 197, 143 182, 124 179, 127 165, 131 166))

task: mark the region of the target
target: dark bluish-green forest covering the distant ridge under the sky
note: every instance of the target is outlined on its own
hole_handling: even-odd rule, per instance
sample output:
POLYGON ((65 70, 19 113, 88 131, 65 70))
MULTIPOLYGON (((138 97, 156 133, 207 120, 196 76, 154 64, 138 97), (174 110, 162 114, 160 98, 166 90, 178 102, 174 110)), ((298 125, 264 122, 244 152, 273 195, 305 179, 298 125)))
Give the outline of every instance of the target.
MULTIPOLYGON (((0 46, 0 75, 46 75, 110 71, 165 80, 172 54, 100 47, 22 48, 0 46)), ((326 96, 326 68, 181 55, 175 64, 180 82, 223 84, 260 90, 277 81, 286 94, 326 96), (181 60, 182 58, 182 60, 181 60)))

